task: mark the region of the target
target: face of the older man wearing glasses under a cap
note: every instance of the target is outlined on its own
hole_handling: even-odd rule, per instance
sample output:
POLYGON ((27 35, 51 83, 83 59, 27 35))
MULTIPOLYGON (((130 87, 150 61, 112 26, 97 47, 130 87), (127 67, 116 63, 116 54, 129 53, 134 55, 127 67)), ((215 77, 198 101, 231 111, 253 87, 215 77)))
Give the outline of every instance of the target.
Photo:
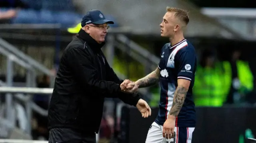
POLYGON ((101 24, 101 25, 95 25, 95 24, 89 24, 86 25, 87 33, 98 43, 102 43, 105 41, 106 34, 108 32, 108 25, 107 24, 101 24))

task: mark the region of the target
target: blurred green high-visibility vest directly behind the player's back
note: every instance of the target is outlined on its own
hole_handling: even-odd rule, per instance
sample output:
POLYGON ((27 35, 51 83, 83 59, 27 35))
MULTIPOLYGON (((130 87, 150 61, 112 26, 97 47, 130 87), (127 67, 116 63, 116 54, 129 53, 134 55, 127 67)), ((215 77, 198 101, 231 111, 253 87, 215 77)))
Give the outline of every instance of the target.
POLYGON ((214 68, 198 66, 196 70, 193 97, 196 106, 222 106, 228 90, 223 88, 226 83, 223 70, 216 65, 214 68))

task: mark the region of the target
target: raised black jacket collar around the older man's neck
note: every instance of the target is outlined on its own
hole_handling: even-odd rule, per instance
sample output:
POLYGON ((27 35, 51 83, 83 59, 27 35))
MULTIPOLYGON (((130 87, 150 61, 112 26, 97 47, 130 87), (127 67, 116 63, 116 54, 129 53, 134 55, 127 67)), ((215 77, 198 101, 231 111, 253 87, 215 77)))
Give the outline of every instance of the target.
POLYGON ((96 51, 97 53, 100 51, 100 49, 105 45, 105 42, 102 42, 99 44, 96 42, 88 33, 86 33, 83 29, 80 29, 78 32, 77 37, 81 38, 84 40, 93 51, 96 51))

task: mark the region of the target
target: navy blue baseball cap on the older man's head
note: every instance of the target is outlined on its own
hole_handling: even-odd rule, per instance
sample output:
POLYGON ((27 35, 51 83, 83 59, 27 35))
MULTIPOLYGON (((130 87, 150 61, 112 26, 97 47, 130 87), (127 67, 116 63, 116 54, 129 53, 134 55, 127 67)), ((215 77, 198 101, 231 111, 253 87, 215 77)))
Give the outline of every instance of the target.
POLYGON ((89 10, 83 17, 81 25, 86 24, 114 24, 111 20, 106 20, 105 16, 99 10, 89 10))

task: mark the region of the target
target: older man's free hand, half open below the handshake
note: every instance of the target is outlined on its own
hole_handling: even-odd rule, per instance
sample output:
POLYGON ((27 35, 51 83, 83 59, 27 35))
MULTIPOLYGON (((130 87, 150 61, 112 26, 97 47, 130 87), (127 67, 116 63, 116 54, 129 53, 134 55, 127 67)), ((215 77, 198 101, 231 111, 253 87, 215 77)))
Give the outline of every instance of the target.
POLYGON ((148 118, 148 116, 151 116, 151 109, 145 100, 140 99, 136 107, 140 111, 143 118, 148 118))

